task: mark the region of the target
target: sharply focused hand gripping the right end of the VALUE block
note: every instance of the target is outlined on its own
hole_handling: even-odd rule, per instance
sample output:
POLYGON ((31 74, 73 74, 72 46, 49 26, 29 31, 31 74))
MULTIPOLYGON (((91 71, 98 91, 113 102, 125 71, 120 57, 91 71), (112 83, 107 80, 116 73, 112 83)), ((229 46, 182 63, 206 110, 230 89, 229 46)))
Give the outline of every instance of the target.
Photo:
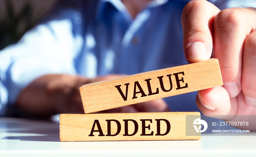
POLYGON ((224 83, 198 92, 197 106, 204 115, 234 115, 218 117, 229 121, 236 121, 236 115, 256 115, 255 19, 255 8, 220 11, 206 0, 194 0, 185 6, 182 28, 186 59, 190 63, 203 61, 213 50, 224 83))

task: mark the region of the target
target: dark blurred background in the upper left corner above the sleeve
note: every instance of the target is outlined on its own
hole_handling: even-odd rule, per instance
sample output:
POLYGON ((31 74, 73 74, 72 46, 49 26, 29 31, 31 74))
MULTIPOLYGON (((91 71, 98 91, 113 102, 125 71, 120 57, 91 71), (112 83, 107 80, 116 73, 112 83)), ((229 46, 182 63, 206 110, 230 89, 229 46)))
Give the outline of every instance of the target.
POLYGON ((57 0, 0 0, 0 50, 18 42, 51 11, 57 0))

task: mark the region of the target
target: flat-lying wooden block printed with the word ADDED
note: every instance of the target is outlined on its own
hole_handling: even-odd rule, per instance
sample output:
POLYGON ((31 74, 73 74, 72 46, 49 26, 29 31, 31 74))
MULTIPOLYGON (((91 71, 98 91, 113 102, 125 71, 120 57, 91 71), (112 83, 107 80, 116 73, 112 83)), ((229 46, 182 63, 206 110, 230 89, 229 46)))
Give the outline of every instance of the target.
POLYGON ((61 114, 60 141, 200 140, 197 118, 199 112, 61 114))

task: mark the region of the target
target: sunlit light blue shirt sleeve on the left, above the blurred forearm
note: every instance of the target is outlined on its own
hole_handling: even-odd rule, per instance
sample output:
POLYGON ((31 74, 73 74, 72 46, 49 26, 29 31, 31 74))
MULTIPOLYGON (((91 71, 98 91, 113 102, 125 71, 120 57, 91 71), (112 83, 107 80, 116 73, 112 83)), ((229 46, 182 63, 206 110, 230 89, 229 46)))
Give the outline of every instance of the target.
POLYGON ((20 91, 46 74, 76 74, 74 60, 82 47, 80 13, 59 9, 28 31, 17 44, 0 51, 0 116, 20 91))

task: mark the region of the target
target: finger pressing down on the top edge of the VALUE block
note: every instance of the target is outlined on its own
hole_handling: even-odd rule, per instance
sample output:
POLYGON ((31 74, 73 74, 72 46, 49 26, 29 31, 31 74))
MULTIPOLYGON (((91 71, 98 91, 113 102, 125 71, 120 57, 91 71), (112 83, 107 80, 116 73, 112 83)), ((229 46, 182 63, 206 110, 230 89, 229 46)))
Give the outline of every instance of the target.
POLYGON ((190 1, 183 9, 184 54, 189 63, 207 60, 212 54, 212 27, 220 10, 206 0, 190 1))

